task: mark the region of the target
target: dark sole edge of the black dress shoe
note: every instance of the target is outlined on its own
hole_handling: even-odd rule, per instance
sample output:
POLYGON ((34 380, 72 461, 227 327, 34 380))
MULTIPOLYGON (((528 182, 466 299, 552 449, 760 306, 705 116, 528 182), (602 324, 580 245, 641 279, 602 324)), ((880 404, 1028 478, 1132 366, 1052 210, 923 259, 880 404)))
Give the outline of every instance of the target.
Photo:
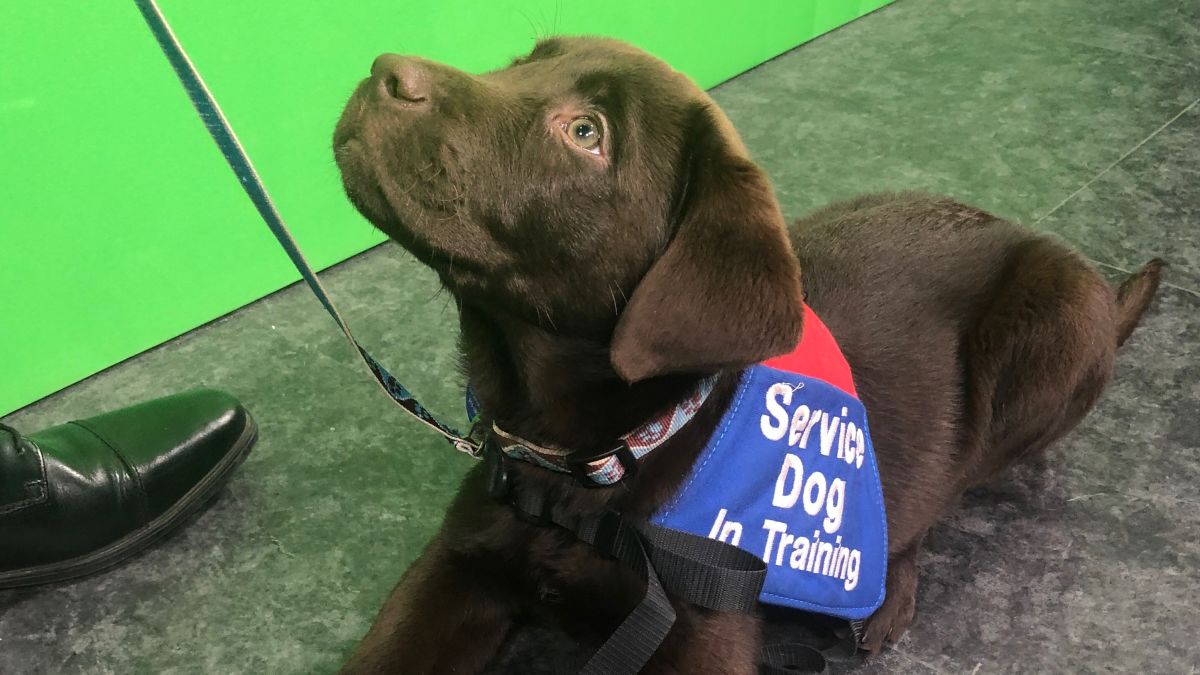
POLYGON ((238 466, 250 454, 258 440, 258 424, 250 413, 246 414, 246 429, 234 443, 233 449, 221 461, 216 464, 204 478, 184 494, 174 506, 155 518, 150 522, 138 527, 120 539, 97 549, 90 554, 64 560, 37 567, 26 567, 12 572, 0 573, 0 591, 7 589, 20 589, 23 586, 40 586, 42 584, 56 584, 70 581, 83 577, 90 577, 120 565, 130 557, 142 552, 155 542, 162 539, 175 530, 179 525, 196 514, 200 507, 216 497, 224 486, 226 480, 238 466))

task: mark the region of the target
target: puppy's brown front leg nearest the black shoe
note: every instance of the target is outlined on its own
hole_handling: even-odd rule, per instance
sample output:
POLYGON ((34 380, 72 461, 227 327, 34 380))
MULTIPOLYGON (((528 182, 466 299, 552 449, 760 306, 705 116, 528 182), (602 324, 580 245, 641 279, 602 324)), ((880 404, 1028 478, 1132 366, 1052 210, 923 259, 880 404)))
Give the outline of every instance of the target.
POLYGON ((443 537, 404 573, 343 674, 463 675, 494 656, 515 605, 479 569, 467 569, 443 537))

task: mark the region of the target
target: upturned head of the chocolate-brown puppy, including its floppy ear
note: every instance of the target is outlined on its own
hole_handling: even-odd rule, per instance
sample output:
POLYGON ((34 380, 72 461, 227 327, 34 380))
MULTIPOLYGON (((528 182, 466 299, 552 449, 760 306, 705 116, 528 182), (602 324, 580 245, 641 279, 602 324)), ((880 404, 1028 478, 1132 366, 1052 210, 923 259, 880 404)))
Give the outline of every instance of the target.
POLYGON ((481 76, 379 56, 334 150, 354 205, 460 299, 611 341, 626 381, 799 336, 769 183, 703 91, 628 44, 546 40, 481 76))

